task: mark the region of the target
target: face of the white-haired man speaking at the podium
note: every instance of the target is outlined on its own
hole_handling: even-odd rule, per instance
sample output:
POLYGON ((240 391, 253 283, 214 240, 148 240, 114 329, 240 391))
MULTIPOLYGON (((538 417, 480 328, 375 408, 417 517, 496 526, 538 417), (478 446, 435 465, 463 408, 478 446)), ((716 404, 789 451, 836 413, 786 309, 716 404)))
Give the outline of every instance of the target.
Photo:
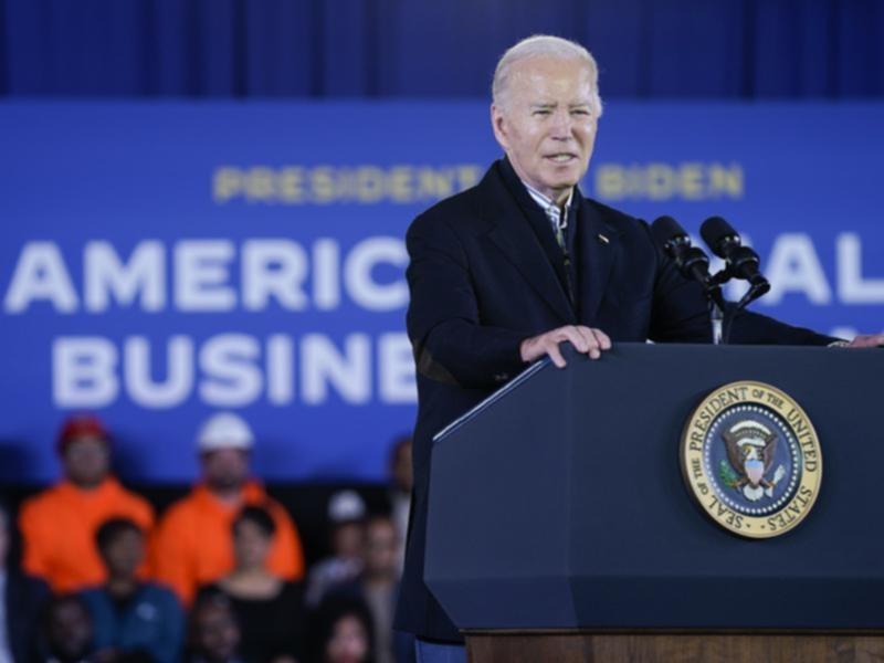
POLYGON ((525 182, 557 202, 589 167, 598 112, 590 71, 580 60, 552 56, 515 62, 492 106, 497 143, 525 182))

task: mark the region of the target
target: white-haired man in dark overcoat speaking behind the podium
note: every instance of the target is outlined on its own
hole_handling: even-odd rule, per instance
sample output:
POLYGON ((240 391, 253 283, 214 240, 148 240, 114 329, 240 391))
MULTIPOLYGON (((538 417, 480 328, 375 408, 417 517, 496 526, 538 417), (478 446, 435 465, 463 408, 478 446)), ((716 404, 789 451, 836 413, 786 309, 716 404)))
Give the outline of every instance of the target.
MULTIPOLYGON (((432 436, 532 361, 549 356, 565 366, 562 341, 596 359, 612 341, 712 338, 699 284, 678 274, 648 224, 577 188, 602 114, 589 52, 555 36, 526 39, 504 53, 492 92, 505 157, 476 187, 418 217, 407 235, 419 412, 396 625, 418 636, 427 662, 465 661, 456 628, 423 583, 432 436)), ((732 337, 835 341, 751 313, 734 322, 732 337)), ((884 335, 853 345, 880 343, 884 335)))

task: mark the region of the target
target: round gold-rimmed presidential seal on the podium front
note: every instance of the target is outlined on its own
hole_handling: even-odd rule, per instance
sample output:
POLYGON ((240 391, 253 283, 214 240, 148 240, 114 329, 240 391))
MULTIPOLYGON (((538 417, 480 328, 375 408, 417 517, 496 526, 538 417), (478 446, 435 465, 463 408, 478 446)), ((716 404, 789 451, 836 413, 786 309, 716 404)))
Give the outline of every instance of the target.
POLYGON ((732 382, 709 393, 687 420, 681 459, 703 511, 749 538, 794 528, 820 491, 822 455, 810 419, 762 382, 732 382))

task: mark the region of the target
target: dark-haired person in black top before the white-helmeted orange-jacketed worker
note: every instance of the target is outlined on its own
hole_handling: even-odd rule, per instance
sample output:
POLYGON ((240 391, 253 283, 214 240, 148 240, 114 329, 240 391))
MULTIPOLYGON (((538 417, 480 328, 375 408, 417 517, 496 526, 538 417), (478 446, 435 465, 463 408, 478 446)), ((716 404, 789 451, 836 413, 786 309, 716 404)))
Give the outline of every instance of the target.
POLYGON ((221 593, 230 601, 240 627, 240 652, 250 663, 303 660, 301 587, 281 580, 266 568, 275 530, 266 509, 244 507, 233 522, 233 571, 200 592, 200 597, 221 593))

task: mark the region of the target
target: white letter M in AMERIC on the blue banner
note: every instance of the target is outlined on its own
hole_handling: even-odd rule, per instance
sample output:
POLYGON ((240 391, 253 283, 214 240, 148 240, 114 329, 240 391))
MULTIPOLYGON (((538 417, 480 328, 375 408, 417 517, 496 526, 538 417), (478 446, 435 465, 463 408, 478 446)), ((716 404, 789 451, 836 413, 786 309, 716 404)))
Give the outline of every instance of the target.
POLYGON ((107 309, 113 295, 128 306, 140 294, 144 311, 166 307, 166 255, 157 241, 140 242, 124 265, 107 241, 87 242, 83 260, 84 305, 87 311, 107 309))

